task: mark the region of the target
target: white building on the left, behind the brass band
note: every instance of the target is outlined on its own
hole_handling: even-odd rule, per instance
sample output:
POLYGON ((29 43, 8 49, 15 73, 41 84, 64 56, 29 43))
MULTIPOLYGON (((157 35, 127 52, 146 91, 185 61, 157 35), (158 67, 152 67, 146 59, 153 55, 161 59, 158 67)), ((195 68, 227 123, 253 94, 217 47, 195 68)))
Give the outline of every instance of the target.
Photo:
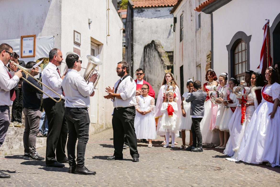
MULTIPOLYGON (((83 61, 80 71, 83 75, 86 56, 100 54, 103 64, 98 66, 101 74, 98 90, 91 97, 90 132, 111 127, 113 103, 103 96, 105 87, 113 87, 118 79, 115 67, 122 61, 123 27, 112 0, 2 0, 0 11, 5 18, 1 22, 0 43, 13 44, 14 51, 20 54, 20 37, 36 34, 36 56, 20 58, 25 62, 48 57, 54 47, 61 49, 64 59, 66 52, 74 50, 83 61), (74 30, 81 34, 81 45, 74 43, 74 30)), ((60 71, 65 65, 62 64, 60 71)))

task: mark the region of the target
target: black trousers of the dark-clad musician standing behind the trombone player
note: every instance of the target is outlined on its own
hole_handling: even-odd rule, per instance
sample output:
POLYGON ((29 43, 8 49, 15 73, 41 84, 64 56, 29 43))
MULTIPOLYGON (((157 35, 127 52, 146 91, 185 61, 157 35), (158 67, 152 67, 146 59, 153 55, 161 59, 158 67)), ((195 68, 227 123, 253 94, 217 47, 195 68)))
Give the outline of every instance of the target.
POLYGON ((16 98, 12 106, 12 122, 17 121, 21 123, 22 119, 22 89, 15 90, 16 98))

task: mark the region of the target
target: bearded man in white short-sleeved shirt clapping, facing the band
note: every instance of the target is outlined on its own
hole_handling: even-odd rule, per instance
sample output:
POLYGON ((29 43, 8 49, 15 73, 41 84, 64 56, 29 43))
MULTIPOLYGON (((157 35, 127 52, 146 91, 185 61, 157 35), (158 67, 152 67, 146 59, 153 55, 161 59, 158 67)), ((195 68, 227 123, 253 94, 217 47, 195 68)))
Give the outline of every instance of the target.
POLYGON ((137 138, 134 129, 136 82, 129 76, 129 65, 125 61, 118 63, 116 72, 121 78, 115 83, 113 89, 110 87, 106 88, 108 95, 104 96, 106 99, 113 100, 115 107, 112 118, 115 151, 114 155, 107 159, 123 159, 123 143, 124 137, 126 137, 132 161, 138 162, 139 153, 137 151, 137 138))

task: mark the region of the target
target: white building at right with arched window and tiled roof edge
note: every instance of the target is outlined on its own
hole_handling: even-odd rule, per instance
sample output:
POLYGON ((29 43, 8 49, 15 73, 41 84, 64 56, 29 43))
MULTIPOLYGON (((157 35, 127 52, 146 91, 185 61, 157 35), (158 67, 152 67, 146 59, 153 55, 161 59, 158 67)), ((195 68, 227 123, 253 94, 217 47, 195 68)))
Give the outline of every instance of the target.
POLYGON ((270 20, 271 56, 280 61, 279 0, 207 0, 196 10, 211 15, 212 68, 216 73, 243 79, 246 70, 258 71, 265 19, 270 20))

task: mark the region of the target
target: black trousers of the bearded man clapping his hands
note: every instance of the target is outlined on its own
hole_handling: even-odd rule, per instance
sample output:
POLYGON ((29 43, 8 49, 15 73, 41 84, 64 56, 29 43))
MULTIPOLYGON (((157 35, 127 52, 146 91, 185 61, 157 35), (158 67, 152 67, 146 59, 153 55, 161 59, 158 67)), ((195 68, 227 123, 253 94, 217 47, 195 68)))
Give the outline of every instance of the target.
POLYGON ((137 138, 134 129, 135 107, 122 108, 117 110, 114 108, 112 125, 114 136, 114 155, 117 158, 123 158, 124 137, 127 138, 130 155, 139 158, 137 151, 137 138))

